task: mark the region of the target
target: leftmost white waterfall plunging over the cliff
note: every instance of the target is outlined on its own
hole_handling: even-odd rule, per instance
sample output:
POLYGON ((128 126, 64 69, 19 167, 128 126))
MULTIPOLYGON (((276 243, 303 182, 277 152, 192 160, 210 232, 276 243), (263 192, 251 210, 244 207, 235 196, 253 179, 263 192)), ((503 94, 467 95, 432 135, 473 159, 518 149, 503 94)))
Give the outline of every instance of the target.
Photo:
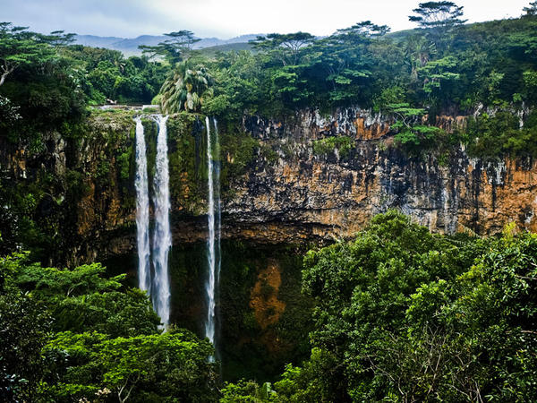
POLYGON ((151 286, 149 266, 149 190, 146 143, 140 116, 136 121, 136 233, 138 238, 138 283, 142 290, 151 286))

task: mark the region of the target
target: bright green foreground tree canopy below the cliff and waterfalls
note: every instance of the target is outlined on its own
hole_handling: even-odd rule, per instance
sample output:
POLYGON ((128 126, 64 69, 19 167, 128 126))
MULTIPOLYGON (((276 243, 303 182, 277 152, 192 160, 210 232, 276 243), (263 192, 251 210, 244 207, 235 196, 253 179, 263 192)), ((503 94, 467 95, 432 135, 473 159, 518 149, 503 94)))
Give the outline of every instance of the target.
POLYGON ((399 212, 312 250, 311 357, 277 382, 217 388, 207 341, 158 330, 99 264, 0 261, 0 391, 26 401, 533 401, 537 236, 432 235, 399 212))

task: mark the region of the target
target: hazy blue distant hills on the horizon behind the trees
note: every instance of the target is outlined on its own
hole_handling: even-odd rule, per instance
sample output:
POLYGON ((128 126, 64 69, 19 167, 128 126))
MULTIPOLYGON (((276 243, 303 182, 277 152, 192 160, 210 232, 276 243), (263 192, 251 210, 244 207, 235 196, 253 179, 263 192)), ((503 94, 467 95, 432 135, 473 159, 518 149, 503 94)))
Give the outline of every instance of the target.
MULTIPOLYGON (((259 34, 260 35, 260 34, 259 34)), ((258 35, 242 35, 232 39, 217 39, 217 38, 203 38, 194 45, 195 49, 214 48, 217 50, 231 50, 232 48, 249 48, 248 41, 256 39, 258 35), (239 47, 230 47, 226 49, 226 46, 241 44, 239 47)), ((168 39, 164 35, 141 35, 137 38, 117 38, 117 37, 98 37, 95 35, 77 35, 75 37, 75 43, 84 45, 87 47, 107 47, 109 49, 119 50, 123 52, 124 56, 139 56, 141 51, 138 48, 140 45, 155 46, 159 42, 163 42, 168 39)), ((212 53, 212 52, 210 52, 212 53)))

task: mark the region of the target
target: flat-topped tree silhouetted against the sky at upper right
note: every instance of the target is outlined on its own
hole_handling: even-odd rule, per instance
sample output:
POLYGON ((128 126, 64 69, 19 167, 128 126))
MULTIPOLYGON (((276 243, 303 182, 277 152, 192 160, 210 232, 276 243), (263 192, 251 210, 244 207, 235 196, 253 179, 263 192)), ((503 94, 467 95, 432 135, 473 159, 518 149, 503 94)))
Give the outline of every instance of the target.
POLYGON ((418 8, 413 9, 413 13, 408 19, 417 22, 422 28, 451 28, 465 23, 461 20, 464 6, 458 6, 453 2, 426 2, 420 3, 418 8))

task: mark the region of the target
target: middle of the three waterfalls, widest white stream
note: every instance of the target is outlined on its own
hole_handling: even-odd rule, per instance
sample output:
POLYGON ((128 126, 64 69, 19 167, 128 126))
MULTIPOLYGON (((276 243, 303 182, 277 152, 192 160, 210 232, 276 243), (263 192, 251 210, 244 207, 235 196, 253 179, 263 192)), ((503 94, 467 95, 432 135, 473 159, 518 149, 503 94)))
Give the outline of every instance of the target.
POLYGON ((170 191, 166 142, 167 116, 158 116, 157 160, 155 163, 155 231, 153 233, 153 306, 166 326, 170 319, 170 280, 168 253, 172 246, 170 231, 170 191))

